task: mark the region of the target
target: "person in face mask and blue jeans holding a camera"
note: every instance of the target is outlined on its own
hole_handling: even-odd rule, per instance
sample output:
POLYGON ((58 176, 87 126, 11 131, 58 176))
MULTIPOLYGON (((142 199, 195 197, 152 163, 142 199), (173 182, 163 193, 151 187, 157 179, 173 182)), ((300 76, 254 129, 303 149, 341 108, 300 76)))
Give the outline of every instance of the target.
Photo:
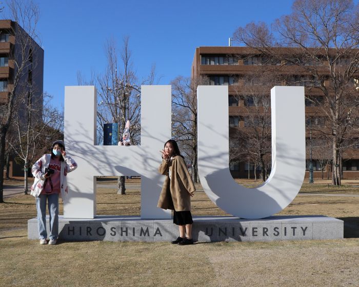
POLYGON ((58 195, 66 196, 67 173, 77 168, 76 162, 66 155, 63 140, 52 144, 51 154, 44 154, 32 166, 35 177, 31 187, 31 195, 36 198, 37 228, 40 244, 47 244, 46 201, 48 202, 50 219, 50 245, 56 244, 58 237, 58 195))

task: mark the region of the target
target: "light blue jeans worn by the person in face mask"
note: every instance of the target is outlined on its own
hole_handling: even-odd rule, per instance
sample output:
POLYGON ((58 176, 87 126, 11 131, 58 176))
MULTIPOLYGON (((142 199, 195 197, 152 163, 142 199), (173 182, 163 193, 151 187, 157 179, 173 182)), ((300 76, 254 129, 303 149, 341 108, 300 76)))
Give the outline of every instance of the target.
POLYGON ((39 239, 46 239, 46 201, 50 215, 50 236, 52 240, 58 237, 58 194, 40 194, 36 197, 37 230, 39 239))

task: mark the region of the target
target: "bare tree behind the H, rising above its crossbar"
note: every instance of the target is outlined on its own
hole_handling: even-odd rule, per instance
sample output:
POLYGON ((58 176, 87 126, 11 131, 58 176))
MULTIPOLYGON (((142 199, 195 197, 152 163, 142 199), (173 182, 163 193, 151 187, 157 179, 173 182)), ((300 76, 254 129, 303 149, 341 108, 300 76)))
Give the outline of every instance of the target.
MULTIPOLYGON (((132 64, 129 37, 124 37, 122 50, 118 53, 113 39, 106 45, 107 69, 103 75, 92 75, 90 83, 97 87, 97 134, 98 144, 103 139, 104 124, 117 123, 119 132, 125 129, 127 120, 131 122, 131 142, 141 144, 141 85, 151 85, 155 79, 155 67, 149 76, 138 81, 132 64), (119 54, 120 59, 117 55, 119 54)), ((84 84, 81 74, 77 74, 79 84, 84 84)), ((125 176, 117 180, 117 194, 126 194, 125 176)))

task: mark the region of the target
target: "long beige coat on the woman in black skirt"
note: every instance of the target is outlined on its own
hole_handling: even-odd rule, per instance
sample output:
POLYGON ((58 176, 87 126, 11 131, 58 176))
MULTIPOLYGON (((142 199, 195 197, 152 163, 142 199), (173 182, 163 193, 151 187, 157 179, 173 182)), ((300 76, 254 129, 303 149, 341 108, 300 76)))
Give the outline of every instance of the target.
POLYGON ((177 155, 171 161, 163 160, 158 172, 166 175, 166 179, 161 195, 159 195, 157 207, 175 211, 190 211, 191 200, 189 194, 196 189, 182 156, 177 155), (171 169, 171 180, 169 169, 171 169))

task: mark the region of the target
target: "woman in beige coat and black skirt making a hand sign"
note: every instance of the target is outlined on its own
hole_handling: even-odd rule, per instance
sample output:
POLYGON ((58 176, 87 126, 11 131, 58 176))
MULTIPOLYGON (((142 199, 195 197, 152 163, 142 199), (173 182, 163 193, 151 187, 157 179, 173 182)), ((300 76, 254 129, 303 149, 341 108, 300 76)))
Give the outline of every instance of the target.
POLYGON ((191 199, 196 190, 177 142, 166 141, 158 172, 166 175, 157 207, 173 210, 173 223, 178 225, 179 236, 172 244, 193 244, 191 199))

